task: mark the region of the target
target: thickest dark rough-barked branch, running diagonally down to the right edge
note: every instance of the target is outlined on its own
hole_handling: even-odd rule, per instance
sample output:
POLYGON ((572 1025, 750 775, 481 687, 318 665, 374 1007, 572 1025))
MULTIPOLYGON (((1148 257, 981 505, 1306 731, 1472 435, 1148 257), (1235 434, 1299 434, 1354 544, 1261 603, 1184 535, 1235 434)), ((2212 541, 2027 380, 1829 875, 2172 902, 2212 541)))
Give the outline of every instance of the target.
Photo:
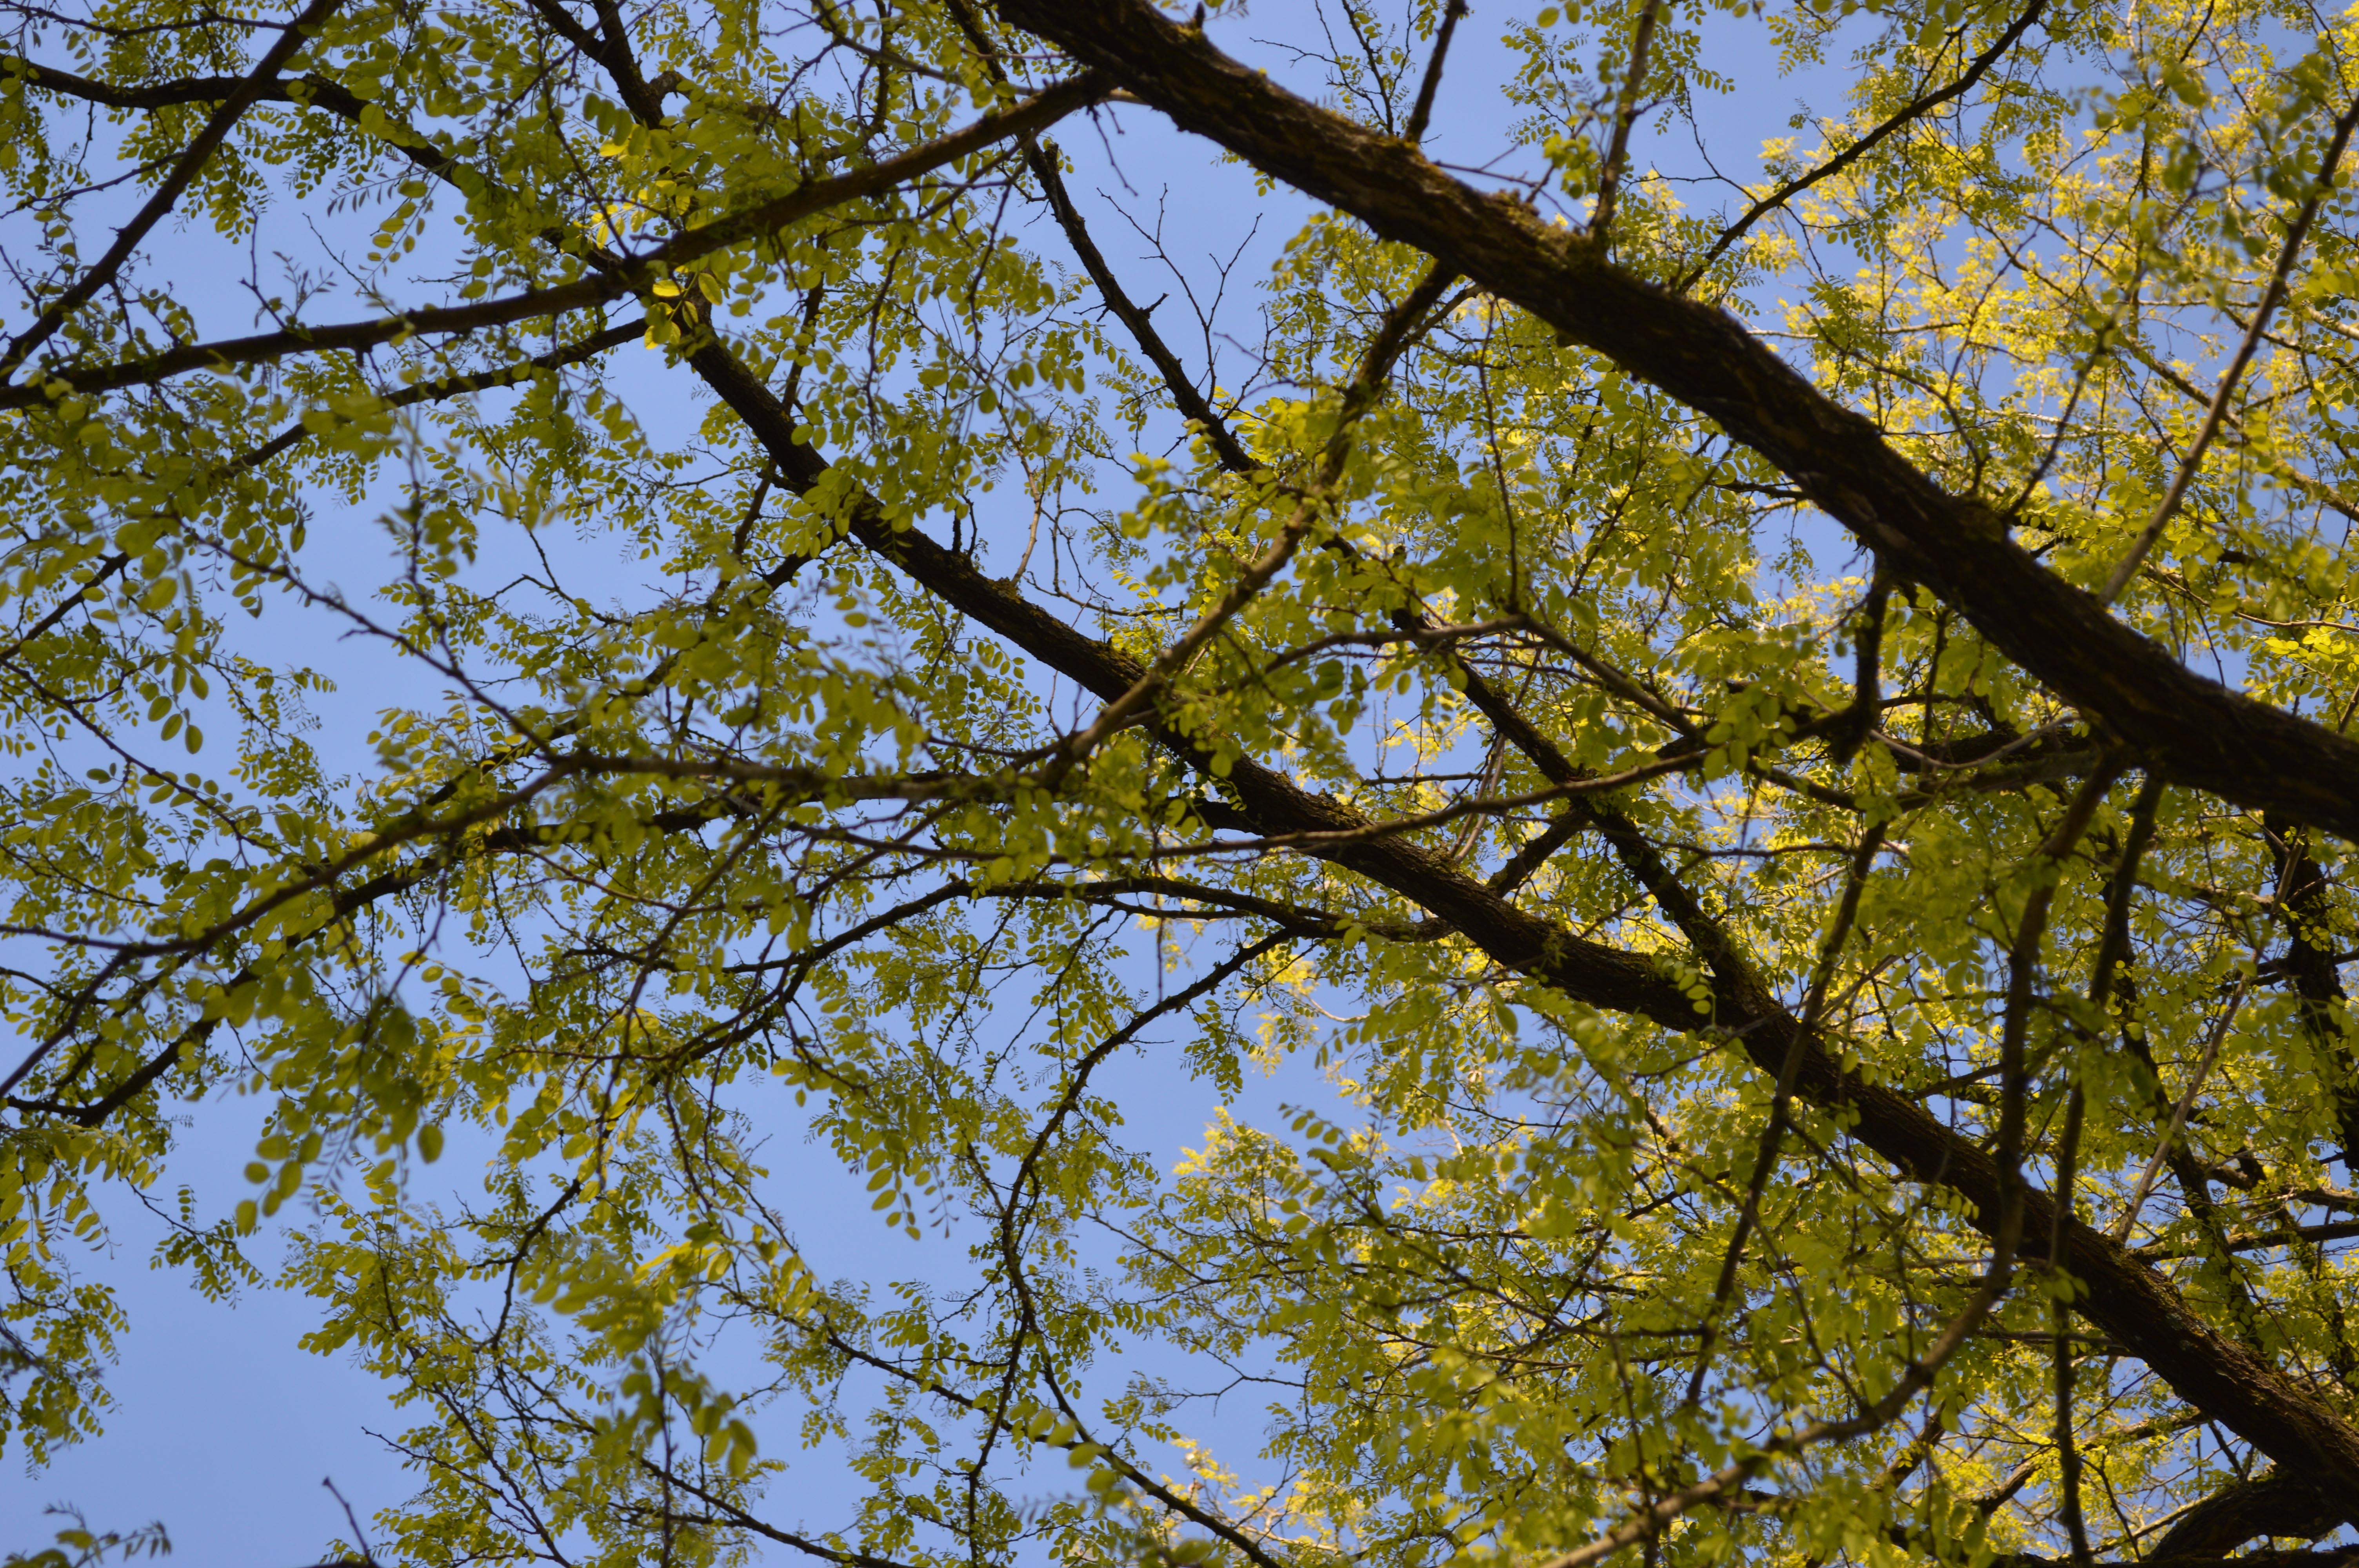
POLYGON ((2017 547, 1986 505, 1946 493, 1729 314, 1611 266, 1585 236, 1474 191, 1397 137, 1293 97, 1144 0, 1000 0, 998 12, 1182 130, 1425 250, 1713 417, 2175 783, 2359 837, 2359 743, 2208 681, 2114 620, 2017 547))

